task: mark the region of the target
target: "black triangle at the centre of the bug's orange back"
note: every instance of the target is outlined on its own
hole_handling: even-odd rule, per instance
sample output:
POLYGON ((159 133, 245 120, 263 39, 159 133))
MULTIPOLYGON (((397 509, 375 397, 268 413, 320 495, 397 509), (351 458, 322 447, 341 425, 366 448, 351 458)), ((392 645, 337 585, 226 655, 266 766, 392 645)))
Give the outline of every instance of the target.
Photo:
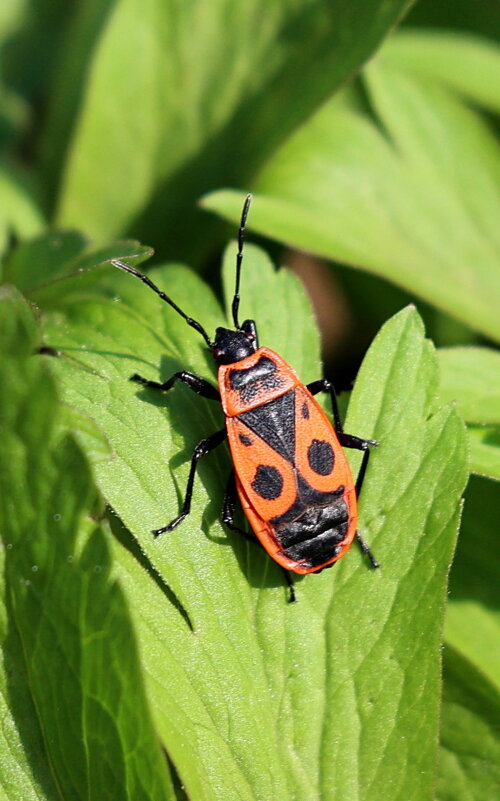
POLYGON ((242 412, 238 420, 292 464, 295 458, 295 390, 242 412))

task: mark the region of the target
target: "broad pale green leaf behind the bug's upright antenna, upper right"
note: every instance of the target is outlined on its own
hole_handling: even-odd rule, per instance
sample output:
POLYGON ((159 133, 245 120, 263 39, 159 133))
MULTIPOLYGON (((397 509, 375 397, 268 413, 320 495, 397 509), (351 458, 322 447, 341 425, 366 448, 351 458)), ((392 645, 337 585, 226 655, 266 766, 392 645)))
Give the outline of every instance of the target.
MULTIPOLYGON (((485 120, 384 50, 363 73, 376 119, 330 100, 253 183, 259 233, 402 286, 500 339, 499 149, 485 120)), ((237 219, 242 195, 204 206, 237 219)))

